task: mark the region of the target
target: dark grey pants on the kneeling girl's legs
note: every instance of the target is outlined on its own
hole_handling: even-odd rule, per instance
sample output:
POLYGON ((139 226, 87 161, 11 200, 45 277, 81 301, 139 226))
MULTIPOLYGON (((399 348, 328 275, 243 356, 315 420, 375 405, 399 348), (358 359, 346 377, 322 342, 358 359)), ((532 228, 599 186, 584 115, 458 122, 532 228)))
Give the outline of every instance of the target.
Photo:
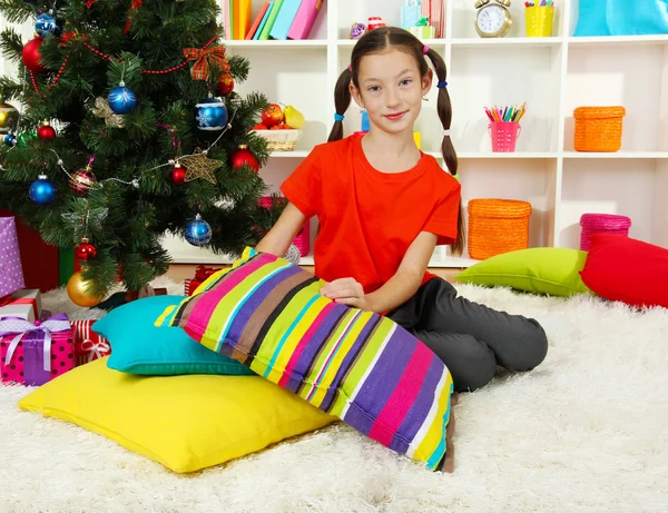
POLYGON ((541 325, 458 297, 433 278, 387 317, 426 344, 448 366, 458 392, 474 391, 494 377, 497 365, 531 371, 548 353, 541 325))

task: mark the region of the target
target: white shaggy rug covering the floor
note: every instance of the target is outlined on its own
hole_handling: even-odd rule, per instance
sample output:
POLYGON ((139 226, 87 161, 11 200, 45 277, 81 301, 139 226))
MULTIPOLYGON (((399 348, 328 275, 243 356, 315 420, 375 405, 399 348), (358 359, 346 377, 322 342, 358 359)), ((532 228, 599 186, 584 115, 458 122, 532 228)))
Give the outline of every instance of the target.
POLYGON ((0 512, 667 511, 668 310, 458 288, 544 322, 550 351, 531 373, 460 395, 451 475, 337 424, 183 476, 21 412, 29 391, 0 387, 0 512))

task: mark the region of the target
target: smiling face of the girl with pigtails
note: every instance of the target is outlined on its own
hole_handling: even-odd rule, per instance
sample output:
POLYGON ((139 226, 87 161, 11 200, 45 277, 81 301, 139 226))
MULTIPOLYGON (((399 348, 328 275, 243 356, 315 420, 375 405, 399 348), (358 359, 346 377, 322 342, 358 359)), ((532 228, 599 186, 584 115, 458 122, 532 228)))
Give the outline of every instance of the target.
POLYGON ((412 134, 422 97, 431 88, 431 69, 426 77, 420 77, 415 59, 392 49, 363 57, 357 78, 360 89, 351 83, 351 92, 366 109, 370 124, 387 134, 412 134))

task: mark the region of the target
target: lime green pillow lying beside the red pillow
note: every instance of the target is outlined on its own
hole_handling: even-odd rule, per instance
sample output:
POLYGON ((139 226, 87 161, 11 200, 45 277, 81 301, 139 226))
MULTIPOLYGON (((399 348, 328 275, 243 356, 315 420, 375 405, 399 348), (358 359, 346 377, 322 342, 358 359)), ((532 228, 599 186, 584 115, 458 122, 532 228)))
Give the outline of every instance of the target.
POLYGON ((579 273, 586 260, 587 253, 579 249, 520 249, 482 260, 460 273, 455 279, 466 284, 568 297, 591 293, 579 273))

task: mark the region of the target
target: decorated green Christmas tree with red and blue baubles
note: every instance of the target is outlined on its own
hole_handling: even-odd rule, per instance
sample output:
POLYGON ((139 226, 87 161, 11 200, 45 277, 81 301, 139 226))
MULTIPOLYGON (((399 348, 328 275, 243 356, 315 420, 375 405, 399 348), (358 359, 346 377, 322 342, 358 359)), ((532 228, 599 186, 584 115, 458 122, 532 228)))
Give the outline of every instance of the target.
POLYGON ((36 32, 1 33, 18 73, 0 77, 0 205, 75 248, 78 304, 164 274, 166 233, 232 255, 257 241, 268 151, 250 129, 268 102, 234 90, 249 62, 219 43, 215 0, 2 0, 0 13, 36 32))

